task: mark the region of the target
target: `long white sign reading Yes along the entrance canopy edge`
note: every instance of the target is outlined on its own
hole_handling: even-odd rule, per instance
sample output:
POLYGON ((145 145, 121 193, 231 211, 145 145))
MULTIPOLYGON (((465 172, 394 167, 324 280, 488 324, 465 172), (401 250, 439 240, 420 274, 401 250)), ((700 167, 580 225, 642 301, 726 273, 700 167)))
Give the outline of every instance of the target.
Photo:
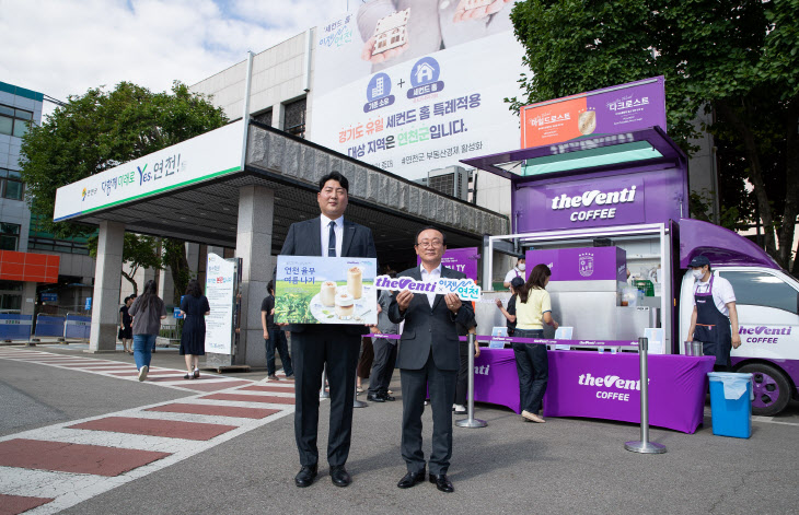
POLYGON ((115 166, 56 191, 53 219, 68 220, 103 208, 173 190, 241 169, 243 121, 115 166))

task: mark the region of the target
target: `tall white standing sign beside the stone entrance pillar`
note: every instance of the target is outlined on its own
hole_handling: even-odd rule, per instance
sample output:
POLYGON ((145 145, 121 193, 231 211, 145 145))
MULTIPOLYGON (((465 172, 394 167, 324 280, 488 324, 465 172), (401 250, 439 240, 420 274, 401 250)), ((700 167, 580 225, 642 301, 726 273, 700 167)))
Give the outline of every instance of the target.
POLYGON ((234 295, 235 261, 209 254, 206 296, 211 313, 206 316, 206 352, 232 353, 234 295))

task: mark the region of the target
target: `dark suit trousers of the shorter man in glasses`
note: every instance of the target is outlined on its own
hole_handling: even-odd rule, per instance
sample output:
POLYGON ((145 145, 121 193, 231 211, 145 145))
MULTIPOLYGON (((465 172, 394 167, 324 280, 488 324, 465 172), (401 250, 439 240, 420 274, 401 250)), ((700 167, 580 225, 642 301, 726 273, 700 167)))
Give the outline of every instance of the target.
POLYGON ((432 453, 429 470, 432 475, 447 473, 452 458, 452 400, 455 398, 458 371, 436 366, 432 351, 420 370, 399 370, 403 391, 402 455, 409 472, 425 468, 421 450, 421 413, 425 411, 427 389, 432 408, 432 453))

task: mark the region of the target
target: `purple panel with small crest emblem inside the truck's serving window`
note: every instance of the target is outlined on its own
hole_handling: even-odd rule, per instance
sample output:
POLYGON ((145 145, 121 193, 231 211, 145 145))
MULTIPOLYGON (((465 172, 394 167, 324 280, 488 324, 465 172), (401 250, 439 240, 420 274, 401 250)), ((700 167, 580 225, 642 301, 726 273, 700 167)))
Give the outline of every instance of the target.
POLYGON ((626 281, 627 253, 618 247, 528 250, 528 267, 544 264, 551 281, 626 281))

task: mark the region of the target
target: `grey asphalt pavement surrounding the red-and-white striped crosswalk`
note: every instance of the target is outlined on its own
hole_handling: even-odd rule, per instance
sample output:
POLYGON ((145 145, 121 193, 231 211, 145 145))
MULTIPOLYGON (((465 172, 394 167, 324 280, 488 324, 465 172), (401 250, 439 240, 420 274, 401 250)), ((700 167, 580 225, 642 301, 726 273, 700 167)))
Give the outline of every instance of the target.
MULTIPOLYGON (((78 349, 46 348, 61 354, 78 349)), ((125 354, 95 358, 126 361, 125 354)), ((159 351, 154 365, 178 367, 181 356, 159 351)), ((259 379, 265 372, 231 374, 259 379)), ((399 390, 398 374, 392 384, 399 390)), ((185 391, 0 360, 0 431, 113 413, 186 397, 185 391)), ((370 403, 355 411, 347 468, 354 482, 334 487, 324 459, 310 488, 293 484, 299 470, 292 417, 283 417, 153 473, 126 482, 63 513, 797 513, 799 511, 799 408, 755 420, 749 440, 713 435, 709 409, 696 434, 651 429, 663 455, 624 449, 637 425, 589 419, 532 424, 501 407, 478 405, 485 429, 454 429, 450 478, 455 492, 430 483, 399 490, 402 402, 370 403)), ((328 402, 321 405, 320 448, 327 434, 328 402)), ((426 454, 431 418, 425 413, 426 454)), ((322 450, 324 456, 324 450, 322 450)), ((2 476, 0 476, 2 493, 2 476)))

